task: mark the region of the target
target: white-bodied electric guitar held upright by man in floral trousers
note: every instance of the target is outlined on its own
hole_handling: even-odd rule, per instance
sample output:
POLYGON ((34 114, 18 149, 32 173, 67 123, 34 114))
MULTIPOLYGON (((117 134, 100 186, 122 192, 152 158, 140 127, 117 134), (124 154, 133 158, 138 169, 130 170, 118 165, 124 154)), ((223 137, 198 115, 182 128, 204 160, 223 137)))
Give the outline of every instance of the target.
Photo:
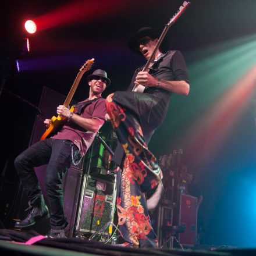
MULTIPOLYGON (((177 21, 177 19, 179 19, 179 17, 185 12, 185 10, 189 8, 189 5, 190 5, 190 2, 184 1, 182 6, 180 6, 178 12, 175 13, 175 15, 173 15, 172 18, 169 20, 169 22, 166 24, 165 28, 162 31, 162 34, 158 39, 157 44, 155 45, 155 48, 150 58, 148 59, 146 65, 143 67, 142 71, 148 72, 151 62, 154 61, 153 58, 155 58, 155 53, 157 52, 159 46, 162 44, 163 38, 165 37, 168 29, 170 28, 170 26, 172 26, 172 24, 174 24, 177 21)), ((142 86, 141 84, 135 84, 133 87, 133 91, 137 91, 138 93, 143 93, 144 90, 145 90, 145 86, 142 86)))

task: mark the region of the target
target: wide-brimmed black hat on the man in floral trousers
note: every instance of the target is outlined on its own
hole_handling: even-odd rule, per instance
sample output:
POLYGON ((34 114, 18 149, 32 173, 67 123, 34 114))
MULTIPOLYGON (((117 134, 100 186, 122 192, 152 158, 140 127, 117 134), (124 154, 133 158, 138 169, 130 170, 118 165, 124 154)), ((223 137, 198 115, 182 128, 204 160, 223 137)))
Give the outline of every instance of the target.
MULTIPOLYGON (((140 50, 138 49, 138 40, 140 40, 143 37, 151 37, 152 39, 155 39, 159 38, 160 35, 161 33, 159 33, 159 31, 156 29, 152 29, 152 27, 141 27, 141 29, 139 29, 137 33, 130 38, 128 42, 128 47, 131 49, 131 51, 135 52, 136 54, 142 55, 140 50)), ((169 44, 169 39, 165 36, 165 38, 163 38, 162 44, 159 47, 160 51, 168 51, 169 44)))

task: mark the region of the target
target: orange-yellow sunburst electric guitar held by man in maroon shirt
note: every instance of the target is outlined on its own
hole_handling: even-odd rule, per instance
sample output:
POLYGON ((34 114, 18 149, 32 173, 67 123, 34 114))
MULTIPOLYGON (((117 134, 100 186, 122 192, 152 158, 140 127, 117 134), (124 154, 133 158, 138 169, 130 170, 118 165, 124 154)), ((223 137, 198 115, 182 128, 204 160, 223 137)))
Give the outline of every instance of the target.
MULTIPOLYGON (((66 106, 66 108, 69 106, 70 101, 73 98, 73 95, 76 91, 76 88, 83 76, 83 74, 88 71, 89 69, 91 69, 91 66, 93 66, 94 63, 94 59, 88 59, 88 61, 86 63, 84 63, 84 65, 79 69, 79 73, 76 76, 76 79, 74 80, 74 83, 72 85, 72 87, 70 88, 69 94, 67 94, 67 97, 65 99, 65 102, 63 103, 63 106, 66 106)), ((70 108, 71 112, 74 112, 74 107, 72 106, 70 108)), ((57 130, 59 130, 60 127, 63 126, 63 124, 65 123, 66 118, 63 118, 63 116, 58 115, 56 116, 52 116, 51 118, 51 125, 48 127, 48 129, 44 132, 44 134, 42 134, 42 137, 40 140, 44 140, 45 138, 49 137, 51 134, 56 133, 57 130)))

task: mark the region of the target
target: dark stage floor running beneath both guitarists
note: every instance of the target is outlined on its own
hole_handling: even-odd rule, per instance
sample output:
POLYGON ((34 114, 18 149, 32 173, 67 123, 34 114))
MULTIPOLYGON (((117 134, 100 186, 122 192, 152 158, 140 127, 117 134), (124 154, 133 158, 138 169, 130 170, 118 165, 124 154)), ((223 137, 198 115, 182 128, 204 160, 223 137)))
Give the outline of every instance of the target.
POLYGON ((226 250, 162 250, 154 248, 127 248, 111 244, 88 241, 84 239, 48 239, 44 238, 34 244, 26 244, 33 233, 16 230, 0 230, 0 250, 2 255, 56 255, 56 256, 95 256, 95 255, 186 255, 186 256, 240 256, 256 255, 256 249, 226 249, 226 250))

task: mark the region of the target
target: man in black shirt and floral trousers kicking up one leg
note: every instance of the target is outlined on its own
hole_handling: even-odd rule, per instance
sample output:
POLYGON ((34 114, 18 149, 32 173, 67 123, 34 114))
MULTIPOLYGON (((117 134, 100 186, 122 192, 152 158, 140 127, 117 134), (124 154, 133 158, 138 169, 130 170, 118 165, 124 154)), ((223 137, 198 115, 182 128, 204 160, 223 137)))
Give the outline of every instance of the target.
MULTIPOLYGON (((143 27, 130 38, 128 46, 148 60, 159 35, 157 30, 143 27)), ((149 71, 139 67, 127 91, 106 98, 106 117, 111 120, 120 142, 113 161, 120 166, 118 216, 126 246, 157 247, 158 244, 148 209, 155 208, 161 198, 162 171, 147 144, 165 119, 172 93, 187 95, 190 88, 182 54, 168 51, 168 47, 165 38, 149 71)))

